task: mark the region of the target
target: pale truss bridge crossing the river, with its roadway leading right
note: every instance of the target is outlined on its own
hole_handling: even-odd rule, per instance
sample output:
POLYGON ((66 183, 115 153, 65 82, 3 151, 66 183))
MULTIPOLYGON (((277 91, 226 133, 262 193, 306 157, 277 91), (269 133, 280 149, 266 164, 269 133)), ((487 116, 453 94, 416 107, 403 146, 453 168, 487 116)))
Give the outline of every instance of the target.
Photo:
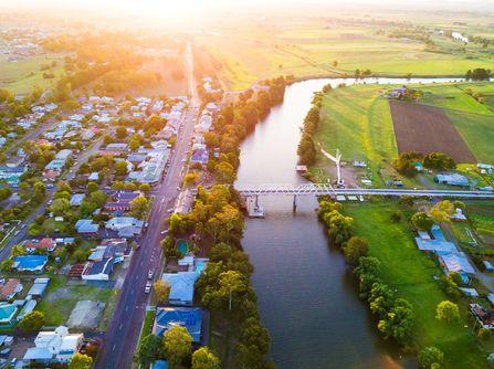
POLYGON ((467 190, 411 190, 386 188, 335 188, 329 183, 303 183, 292 184, 260 184, 235 186, 237 191, 245 198, 260 196, 293 196, 293 205, 296 208, 298 196, 389 196, 389 197, 417 197, 417 198, 452 198, 452 199, 488 199, 494 200, 493 191, 467 190))

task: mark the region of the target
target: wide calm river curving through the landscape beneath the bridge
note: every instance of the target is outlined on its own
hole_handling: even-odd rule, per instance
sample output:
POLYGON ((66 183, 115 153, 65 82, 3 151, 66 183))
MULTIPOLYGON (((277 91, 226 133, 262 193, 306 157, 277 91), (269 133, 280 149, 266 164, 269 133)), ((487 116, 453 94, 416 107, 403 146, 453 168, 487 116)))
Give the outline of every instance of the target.
MULTIPOLYGON (((365 78, 357 83, 411 84, 453 78, 365 78)), ((458 81, 458 80, 456 80, 458 81)), ((354 78, 322 78, 286 88, 274 107, 241 146, 238 184, 290 183, 299 177, 296 147, 299 128, 314 92, 354 78)), ((263 220, 248 220, 242 240, 255 267, 252 282, 263 323, 271 337, 271 356, 281 369, 401 368, 396 350, 377 334, 366 305, 358 298, 343 255, 328 246, 317 222, 315 199, 262 198, 263 220)))

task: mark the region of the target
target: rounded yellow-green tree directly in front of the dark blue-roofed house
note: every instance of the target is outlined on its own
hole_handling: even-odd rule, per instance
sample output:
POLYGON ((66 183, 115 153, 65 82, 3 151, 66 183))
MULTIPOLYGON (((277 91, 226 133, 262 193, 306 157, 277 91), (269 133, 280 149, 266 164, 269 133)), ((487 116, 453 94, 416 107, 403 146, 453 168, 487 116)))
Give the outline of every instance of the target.
POLYGON ((179 368, 192 352, 192 337, 187 328, 174 326, 164 335, 165 354, 171 368, 179 368))

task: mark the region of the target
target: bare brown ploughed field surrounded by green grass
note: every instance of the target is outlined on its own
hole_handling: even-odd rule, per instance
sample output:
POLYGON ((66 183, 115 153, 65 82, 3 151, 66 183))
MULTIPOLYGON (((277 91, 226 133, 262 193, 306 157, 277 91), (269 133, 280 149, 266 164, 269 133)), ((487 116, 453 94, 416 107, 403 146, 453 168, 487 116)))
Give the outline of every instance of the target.
POLYGON ((443 152, 456 162, 476 162, 444 112, 433 106, 389 102, 398 150, 443 152))

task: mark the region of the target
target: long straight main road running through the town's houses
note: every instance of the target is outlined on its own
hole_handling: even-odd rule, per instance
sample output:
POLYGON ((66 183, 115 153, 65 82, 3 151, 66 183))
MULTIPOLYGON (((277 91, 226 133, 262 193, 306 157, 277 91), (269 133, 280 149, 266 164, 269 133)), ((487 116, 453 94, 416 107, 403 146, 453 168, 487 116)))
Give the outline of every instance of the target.
POLYGON ((139 250, 136 251, 130 262, 113 319, 105 333, 104 345, 95 366, 96 369, 124 369, 132 367, 149 298, 149 295, 144 292, 148 271, 151 268, 156 272, 161 271, 162 249, 160 241, 164 238, 161 231, 166 229, 164 220, 168 215, 167 210, 174 207, 179 193, 177 188, 182 180, 185 159, 190 148, 193 126, 198 115, 199 97, 193 78, 193 61, 190 45, 187 46, 186 63, 189 88, 191 88, 191 104, 183 114, 182 128, 177 137, 176 151, 172 155, 168 173, 155 190, 155 201, 149 215, 149 225, 140 240, 139 250))

